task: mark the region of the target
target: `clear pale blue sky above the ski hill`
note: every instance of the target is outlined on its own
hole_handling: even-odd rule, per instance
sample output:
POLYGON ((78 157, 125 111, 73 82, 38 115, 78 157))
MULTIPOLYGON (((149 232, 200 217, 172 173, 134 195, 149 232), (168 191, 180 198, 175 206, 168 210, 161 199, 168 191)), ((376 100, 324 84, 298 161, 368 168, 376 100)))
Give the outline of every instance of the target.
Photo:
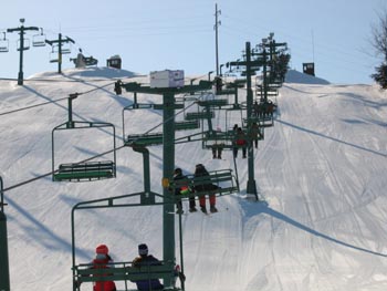
MULTIPOLYGON (((119 54, 123 69, 147 74, 164 69, 185 70, 186 75, 216 69, 215 4, 219 20, 219 62, 240 59, 245 42, 251 45, 274 32, 286 42, 291 67, 315 62, 316 76, 332 83, 372 83, 369 75, 381 62, 369 44, 370 27, 383 0, 67 0, 3 1, 0 32, 20 27, 43 28, 49 40, 61 32, 75 41, 64 55, 63 69, 79 48, 86 56, 106 59, 119 54)), ((25 38, 31 41, 35 31, 25 38)), ((3 33, 1 33, 1 38, 3 33)), ((9 52, 0 53, 0 77, 17 77, 17 32, 7 33, 9 52)), ((51 48, 24 52, 24 76, 56 71, 50 63, 51 48)))

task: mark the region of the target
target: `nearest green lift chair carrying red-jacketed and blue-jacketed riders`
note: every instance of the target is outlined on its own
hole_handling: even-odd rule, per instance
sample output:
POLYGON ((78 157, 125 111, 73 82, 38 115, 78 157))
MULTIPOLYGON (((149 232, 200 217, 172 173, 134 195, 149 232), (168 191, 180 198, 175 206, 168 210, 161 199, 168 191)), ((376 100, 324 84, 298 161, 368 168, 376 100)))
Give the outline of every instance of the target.
MULTIPOLYGON (((72 208, 72 215, 71 215, 71 233, 72 233, 72 281, 73 281, 73 291, 81 291, 81 283, 90 283, 90 282, 101 282, 101 281, 115 281, 116 283, 121 283, 122 288, 119 290, 125 291, 133 291, 130 288, 130 282, 144 280, 144 281, 150 281, 150 280, 164 280, 165 288, 161 290, 174 290, 174 291, 185 291, 185 281, 184 281, 184 260, 182 256, 180 257, 180 264, 176 264, 176 258, 171 259, 165 259, 159 260, 157 264, 149 263, 149 264, 142 264, 136 266, 133 261, 114 261, 112 263, 108 263, 108 271, 104 268, 93 268, 93 263, 80 263, 77 261, 77 252, 76 251, 80 247, 76 246, 79 243, 79 239, 76 239, 76 229, 79 229, 81 226, 85 227, 85 225, 90 224, 90 221, 86 221, 86 224, 82 224, 82 220, 80 218, 75 219, 75 215, 79 212, 79 210, 88 210, 91 214, 97 212, 98 210, 103 209, 104 211, 114 211, 114 215, 116 217, 116 222, 121 222, 119 218, 121 216, 125 216, 126 214, 124 210, 119 210, 119 208, 134 208, 134 207, 155 207, 155 206, 167 206, 174 207, 176 204, 176 199, 164 197, 156 193, 136 193, 136 194, 127 194, 122 196, 115 196, 115 197, 108 197, 97 200, 88 200, 88 201, 81 201, 76 204, 72 208), (151 205, 145 205, 143 202, 138 202, 138 198, 142 196, 148 196, 154 195, 158 197, 158 201, 153 202, 151 205), (161 198, 165 201, 159 201, 161 198), (118 207, 118 208, 117 208, 118 207), (121 216, 119 216, 119 215, 121 216), (180 287, 177 287, 177 279, 180 279, 180 287)), ((174 209, 174 208, 172 208, 174 209)), ((169 215, 166 214, 166 215, 169 215)), ((172 214, 175 215, 175 212, 172 214)), ((98 218, 98 217, 97 217, 98 218)), ((122 219, 122 218, 121 218, 122 219)), ((160 219, 163 224, 166 224, 164 219, 160 219)), ((178 227, 178 233, 179 233, 179 241, 180 241, 180 251, 182 254, 182 231, 181 231, 181 217, 179 219, 179 227, 178 227)), ((86 225, 86 226, 87 226, 86 225)), ((82 284, 83 285, 83 284, 82 284)), ((82 289, 83 290, 83 289, 82 289)), ((149 290, 154 290, 153 288, 149 290)))

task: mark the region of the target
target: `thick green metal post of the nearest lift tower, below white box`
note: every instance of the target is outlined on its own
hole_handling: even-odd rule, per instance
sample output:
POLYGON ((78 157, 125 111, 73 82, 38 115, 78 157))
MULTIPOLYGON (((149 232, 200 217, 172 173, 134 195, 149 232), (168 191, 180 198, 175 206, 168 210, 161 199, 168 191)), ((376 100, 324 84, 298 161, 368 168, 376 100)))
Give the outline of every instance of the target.
MULTIPOLYGON (((164 102, 164 116, 163 116, 163 177, 172 179, 175 168, 175 95, 174 93, 166 92, 163 94, 164 102)), ((167 188, 163 189, 164 201, 166 202, 164 208, 164 260, 175 260, 175 216, 170 215, 175 211, 174 204, 167 204, 170 201, 167 198, 170 196, 170 191, 167 188)), ((171 283, 171 278, 166 285, 171 283)))

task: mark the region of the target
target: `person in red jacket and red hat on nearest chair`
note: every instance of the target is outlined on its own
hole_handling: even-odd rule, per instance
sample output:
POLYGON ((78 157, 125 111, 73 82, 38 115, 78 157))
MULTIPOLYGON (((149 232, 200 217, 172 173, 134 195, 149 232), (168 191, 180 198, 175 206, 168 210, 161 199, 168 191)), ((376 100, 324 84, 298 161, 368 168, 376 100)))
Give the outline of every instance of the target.
MULTIPOLYGON (((93 260, 93 269, 109 269, 114 268, 113 266, 108 266, 113 263, 111 256, 108 256, 108 248, 106 245, 100 245, 95 249, 96 256, 93 260)), ((106 270, 107 271, 107 270, 106 270)), ((93 291, 116 291, 116 285, 113 281, 97 281, 94 283, 93 291)))

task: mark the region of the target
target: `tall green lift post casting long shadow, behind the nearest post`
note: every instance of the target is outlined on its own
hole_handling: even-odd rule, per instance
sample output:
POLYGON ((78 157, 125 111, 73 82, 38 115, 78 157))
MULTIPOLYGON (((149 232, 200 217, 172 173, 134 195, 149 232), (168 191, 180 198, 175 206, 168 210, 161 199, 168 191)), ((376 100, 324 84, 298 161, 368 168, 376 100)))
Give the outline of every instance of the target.
MULTIPOLYGON (((251 128, 252 116, 252 106, 253 106, 253 94, 251 89, 251 49, 250 42, 245 43, 245 77, 247 77, 247 114, 248 114, 248 132, 251 128)), ((257 185, 254 179, 254 147, 252 146, 252 141, 249 142, 249 153, 248 153, 248 169, 249 169, 249 179, 248 179, 248 194, 257 195, 257 185)))

